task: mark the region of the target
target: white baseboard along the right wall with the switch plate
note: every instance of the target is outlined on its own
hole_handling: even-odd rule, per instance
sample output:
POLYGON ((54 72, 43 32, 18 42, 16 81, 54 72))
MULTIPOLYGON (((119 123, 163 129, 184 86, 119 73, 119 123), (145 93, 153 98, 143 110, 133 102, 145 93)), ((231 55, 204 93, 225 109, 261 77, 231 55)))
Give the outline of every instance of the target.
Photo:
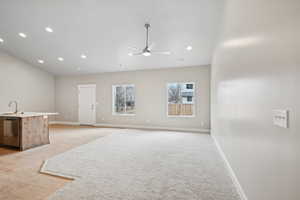
POLYGON ((244 190, 243 190, 243 188, 242 188, 242 186, 241 186, 241 184, 240 184, 237 176, 235 175, 235 173, 234 173, 234 171, 233 171, 233 169, 232 169, 232 167, 231 167, 231 165, 230 165, 230 163, 229 163, 229 161, 228 161, 228 159, 227 159, 224 151, 222 150, 222 148, 221 148, 218 140, 213 135, 211 135, 211 137, 214 140, 214 143, 217 146, 218 152, 221 155, 221 157, 222 157, 222 159, 223 159, 223 161, 224 161, 224 163, 225 163, 225 165, 226 165, 226 167, 227 167, 227 169, 229 171, 230 177, 231 177, 231 179, 233 181, 234 186, 237 188, 237 192, 238 192, 241 200, 248 200, 248 198, 247 198, 247 196, 246 196, 246 194, 245 194, 245 192, 244 192, 244 190))

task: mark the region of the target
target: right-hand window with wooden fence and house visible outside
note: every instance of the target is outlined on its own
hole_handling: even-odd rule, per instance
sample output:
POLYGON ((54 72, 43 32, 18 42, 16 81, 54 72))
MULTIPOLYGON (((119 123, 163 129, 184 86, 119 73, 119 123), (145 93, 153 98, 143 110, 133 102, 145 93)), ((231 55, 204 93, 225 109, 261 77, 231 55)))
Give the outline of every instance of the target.
POLYGON ((168 89, 168 116, 194 116, 195 84, 169 83, 168 89))

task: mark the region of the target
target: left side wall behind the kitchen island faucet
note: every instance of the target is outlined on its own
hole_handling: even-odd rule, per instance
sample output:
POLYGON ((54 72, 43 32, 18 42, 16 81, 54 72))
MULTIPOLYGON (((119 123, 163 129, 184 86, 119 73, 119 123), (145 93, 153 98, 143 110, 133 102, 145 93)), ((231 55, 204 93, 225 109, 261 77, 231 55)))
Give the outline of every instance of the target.
POLYGON ((54 76, 0 51, 0 112, 17 100, 20 111, 54 111, 54 76))

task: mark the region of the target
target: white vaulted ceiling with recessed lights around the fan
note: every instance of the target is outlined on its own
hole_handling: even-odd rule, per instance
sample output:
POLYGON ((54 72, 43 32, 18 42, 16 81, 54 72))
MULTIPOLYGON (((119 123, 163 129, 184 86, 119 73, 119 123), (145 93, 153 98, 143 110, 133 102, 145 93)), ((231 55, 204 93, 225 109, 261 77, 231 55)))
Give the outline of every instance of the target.
POLYGON ((0 0, 0 48, 54 74, 211 63, 222 0, 0 0), (145 46, 171 55, 131 57, 145 46), (54 32, 48 33, 50 26, 54 32), (21 38, 18 33, 27 34, 21 38), (192 51, 186 46, 191 45, 192 51), (84 53, 88 57, 82 59, 84 53), (57 60, 63 57, 64 61, 57 60), (45 61, 39 64, 38 59, 45 61), (80 71, 78 71, 80 68, 80 71))

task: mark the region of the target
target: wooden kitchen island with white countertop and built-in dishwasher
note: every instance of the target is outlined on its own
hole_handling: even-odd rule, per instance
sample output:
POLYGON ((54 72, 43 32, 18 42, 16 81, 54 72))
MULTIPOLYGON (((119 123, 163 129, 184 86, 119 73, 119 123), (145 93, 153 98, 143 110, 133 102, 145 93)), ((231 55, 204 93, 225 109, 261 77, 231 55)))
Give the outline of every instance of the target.
POLYGON ((50 144, 49 116, 57 113, 19 112, 0 114, 0 145, 21 151, 50 144))

